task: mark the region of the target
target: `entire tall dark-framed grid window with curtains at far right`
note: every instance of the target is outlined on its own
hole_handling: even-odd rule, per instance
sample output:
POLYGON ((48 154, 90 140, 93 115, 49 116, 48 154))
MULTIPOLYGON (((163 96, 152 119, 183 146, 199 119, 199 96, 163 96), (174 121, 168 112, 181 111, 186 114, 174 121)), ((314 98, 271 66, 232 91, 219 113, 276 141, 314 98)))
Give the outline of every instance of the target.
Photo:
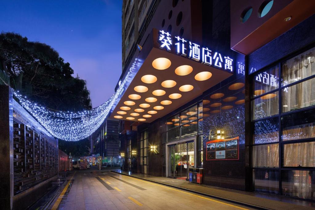
POLYGON ((312 48, 252 76, 256 191, 315 200, 314 54, 312 48))

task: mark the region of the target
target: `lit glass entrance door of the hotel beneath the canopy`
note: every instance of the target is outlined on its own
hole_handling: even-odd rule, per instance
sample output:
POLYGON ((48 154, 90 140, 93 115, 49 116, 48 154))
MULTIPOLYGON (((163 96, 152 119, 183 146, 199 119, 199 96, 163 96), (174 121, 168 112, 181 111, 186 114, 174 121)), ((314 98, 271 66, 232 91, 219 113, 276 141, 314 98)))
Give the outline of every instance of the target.
POLYGON ((194 141, 168 146, 169 177, 188 180, 189 168, 194 167, 194 141))

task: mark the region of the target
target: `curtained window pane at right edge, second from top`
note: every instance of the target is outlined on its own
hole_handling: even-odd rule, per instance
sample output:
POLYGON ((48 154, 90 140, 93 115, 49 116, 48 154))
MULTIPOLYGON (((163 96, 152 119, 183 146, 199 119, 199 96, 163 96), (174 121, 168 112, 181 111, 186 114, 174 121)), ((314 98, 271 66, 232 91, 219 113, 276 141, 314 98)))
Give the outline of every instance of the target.
POLYGON ((313 105, 315 105, 315 78, 282 89, 282 112, 313 105))

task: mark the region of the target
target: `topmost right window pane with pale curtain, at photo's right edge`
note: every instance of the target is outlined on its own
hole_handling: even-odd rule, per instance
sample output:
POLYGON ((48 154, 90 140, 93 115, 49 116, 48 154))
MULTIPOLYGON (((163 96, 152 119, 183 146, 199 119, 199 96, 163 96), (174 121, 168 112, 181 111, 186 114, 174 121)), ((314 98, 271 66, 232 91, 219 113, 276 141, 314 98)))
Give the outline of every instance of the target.
POLYGON ((315 74, 315 48, 312 48, 282 64, 282 86, 297 82, 315 74))

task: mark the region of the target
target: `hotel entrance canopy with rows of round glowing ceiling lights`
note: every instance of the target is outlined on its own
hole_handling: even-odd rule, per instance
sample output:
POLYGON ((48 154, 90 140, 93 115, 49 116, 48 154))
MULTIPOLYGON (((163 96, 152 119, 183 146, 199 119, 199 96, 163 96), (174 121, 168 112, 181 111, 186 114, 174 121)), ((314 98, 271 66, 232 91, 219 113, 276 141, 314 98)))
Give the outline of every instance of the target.
POLYGON ((110 118, 152 122, 232 76, 231 71, 161 49, 158 39, 158 31, 153 30, 110 118))

